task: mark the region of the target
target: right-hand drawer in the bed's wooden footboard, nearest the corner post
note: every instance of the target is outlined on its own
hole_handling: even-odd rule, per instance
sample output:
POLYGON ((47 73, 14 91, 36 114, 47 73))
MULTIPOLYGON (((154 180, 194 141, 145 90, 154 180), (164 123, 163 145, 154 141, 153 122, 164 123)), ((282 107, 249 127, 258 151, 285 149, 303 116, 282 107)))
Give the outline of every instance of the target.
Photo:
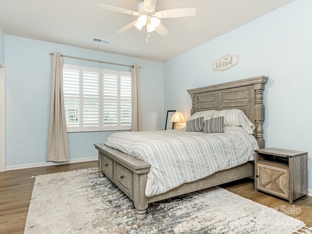
POLYGON ((115 180, 118 184, 122 185, 126 189, 125 193, 132 196, 132 172, 115 162, 116 174, 115 180))

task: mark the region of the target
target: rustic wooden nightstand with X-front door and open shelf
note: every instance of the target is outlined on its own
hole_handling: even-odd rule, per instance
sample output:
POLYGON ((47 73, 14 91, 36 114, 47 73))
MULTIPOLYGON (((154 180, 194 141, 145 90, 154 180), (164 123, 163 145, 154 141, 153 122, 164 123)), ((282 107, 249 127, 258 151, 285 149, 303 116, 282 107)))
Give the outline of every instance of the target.
POLYGON ((308 195, 308 153, 266 148, 254 152, 254 191, 293 200, 308 195))

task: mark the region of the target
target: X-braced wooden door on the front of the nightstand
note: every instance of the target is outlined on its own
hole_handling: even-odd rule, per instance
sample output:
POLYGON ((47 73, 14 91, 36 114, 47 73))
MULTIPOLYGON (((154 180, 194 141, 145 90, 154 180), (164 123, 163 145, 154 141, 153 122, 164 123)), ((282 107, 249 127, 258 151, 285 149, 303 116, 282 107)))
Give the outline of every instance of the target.
POLYGON ((256 164, 256 188, 273 195, 289 198, 289 170, 270 166, 265 163, 256 164))

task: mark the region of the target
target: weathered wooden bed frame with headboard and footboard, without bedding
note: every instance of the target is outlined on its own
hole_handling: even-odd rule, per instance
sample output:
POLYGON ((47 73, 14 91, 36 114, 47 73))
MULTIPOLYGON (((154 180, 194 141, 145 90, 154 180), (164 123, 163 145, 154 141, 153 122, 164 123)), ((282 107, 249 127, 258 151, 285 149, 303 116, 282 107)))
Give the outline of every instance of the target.
MULTIPOLYGON (((264 148, 263 90, 267 80, 268 77, 259 76, 190 89, 188 93, 192 98, 191 115, 204 110, 240 109, 255 124, 254 137, 259 148, 264 148)), ((95 147, 98 150, 99 176, 110 178, 134 201, 137 219, 146 217, 149 203, 254 176, 254 162, 247 162, 194 182, 182 184, 164 194, 147 197, 145 186, 151 167, 149 163, 110 148, 104 143, 95 144, 95 147)))

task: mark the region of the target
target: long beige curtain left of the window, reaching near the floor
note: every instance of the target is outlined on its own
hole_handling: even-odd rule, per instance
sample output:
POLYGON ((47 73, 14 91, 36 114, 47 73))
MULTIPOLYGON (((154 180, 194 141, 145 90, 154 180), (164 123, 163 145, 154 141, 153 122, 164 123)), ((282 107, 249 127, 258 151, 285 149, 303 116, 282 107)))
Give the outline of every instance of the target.
POLYGON ((53 53, 50 119, 46 161, 63 162, 69 160, 68 137, 63 94, 63 58, 61 53, 53 53))

